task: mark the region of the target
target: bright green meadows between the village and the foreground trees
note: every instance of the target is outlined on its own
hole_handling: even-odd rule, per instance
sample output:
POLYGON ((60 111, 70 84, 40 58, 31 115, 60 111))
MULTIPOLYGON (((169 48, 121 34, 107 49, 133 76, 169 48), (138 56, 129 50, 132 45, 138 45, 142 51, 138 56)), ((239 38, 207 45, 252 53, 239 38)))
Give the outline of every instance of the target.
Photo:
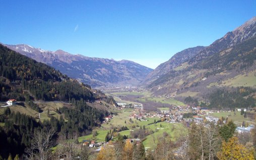
MULTIPOLYGON (((163 108, 163 109, 169 109, 169 108, 163 108)), ((155 117, 155 118, 145 118, 145 121, 139 121, 136 119, 132 119, 133 123, 130 122, 130 118, 129 115, 133 114, 134 112, 131 112, 132 109, 124 109, 121 110, 122 112, 118 113, 117 116, 114 116, 113 119, 111 119, 108 123, 102 124, 102 127, 95 129, 98 132, 98 135, 93 137, 92 133, 86 136, 82 136, 79 137, 79 141, 81 142, 82 140, 96 140, 96 141, 104 141, 105 140, 105 136, 107 134, 107 132, 109 132, 110 128, 113 127, 121 127, 121 126, 126 126, 129 128, 129 130, 124 130, 119 132, 120 135, 126 135, 131 137, 131 131, 135 130, 135 129, 139 129, 140 126, 144 126, 147 130, 153 130, 154 131, 154 137, 156 138, 156 142, 157 138, 159 136, 162 136, 164 132, 168 133, 171 137, 172 140, 176 140, 177 137, 180 136, 180 134, 186 134, 187 130, 186 128, 184 128, 182 126, 182 124, 171 124, 171 123, 167 123, 167 122, 159 122, 156 124, 150 124, 153 123, 154 120, 160 120, 159 117, 155 117), (125 111, 125 112, 123 112, 125 111), (124 121, 126 121, 126 123, 124 123, 124 121), (150 125, 149 125, 150 124, 150 125), (160 125, 162 125, 162 127, 160 127, 160 125)), ((146 137, 147 139, 143 142, 143 144, 145 145, 145 147, 154 147, 153 146, 153 136, 152 135, 148 135, 146 137)))

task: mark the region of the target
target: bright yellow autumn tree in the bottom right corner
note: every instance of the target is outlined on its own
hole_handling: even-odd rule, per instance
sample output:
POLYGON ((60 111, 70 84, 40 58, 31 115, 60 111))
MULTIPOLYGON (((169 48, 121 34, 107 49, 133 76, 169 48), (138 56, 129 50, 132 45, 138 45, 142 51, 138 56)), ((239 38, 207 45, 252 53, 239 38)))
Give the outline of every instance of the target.
POLYGON ((218 152, 217 156, 220 160, 253 160, 254 150, 240 144, 237 137, 231 137, 228 142, 222 142, 221 151, 218 152))

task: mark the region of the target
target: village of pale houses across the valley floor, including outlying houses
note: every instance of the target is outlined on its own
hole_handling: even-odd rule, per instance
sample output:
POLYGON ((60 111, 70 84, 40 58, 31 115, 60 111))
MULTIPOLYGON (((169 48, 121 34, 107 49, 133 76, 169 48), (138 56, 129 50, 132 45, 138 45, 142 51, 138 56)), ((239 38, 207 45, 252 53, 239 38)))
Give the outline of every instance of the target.
MULTIPOLYGON (((7 105, 2 106, 2 107, 8 107, 12 105, 16 105, 17 101, 15 99, 10 99, 7 102, 7 105)), ((204 126, 207 126, 209 122, 213 122, 215 125, 220 124, 221 119, 217 118, 214 116, 214 113, 232 113, 233 111, 231 110, 209 110, 208 108, 204 107, 191 107, 188 105, 185 106, 172 106, 170 108, 158 108, 159 110, 156 112, 149 112, 143 109, 143 105, 140 103, 124 103, 124 102, 117 102, 118 106, 114 106, 116 110, 119 110, 120 113, 122 112, 127 112, 127 116, 125 117, 127 119, 127 124, 130 122, 134 121, 149 121, 150 119, 154 119, 155 121, 152 121, 151 123, 158 123, 158 122, 165 122, 169 124, 182 124, 187 127, 189 127, 189 124, 192 122, 195 122, 196 124, 204 124, 204 126), (129 109, 129 110, 127 110, 129 109), (130 119, 130 121, 128 121, 130 119)), ((236 112, 248 112, 251 111, 251 109, 246 109, 246 108, 237 108, 236 112)), ((235 113, 234 113, 235 114, 235 113)), ((102 124, 108 124, 111 122, 111 120, 114 117, 118 117, 118 115, 109 115, 105 117, 104 121, 102 124)), ((222 123, 226 123, 226 118, 225 118, 222 123)), ((126 123, 126 122, 125 122, 126 123)), ((136 128, 138 128, 137 126, 136 128)), ((135 129, 136 129, 135 128, 135 129)), ((159 129, 159 127, 157 127, 159 129)), ((237 133, 249 133, 251 129, 254 128, 253 124, 248 124, 248 125, 241 125, 237 126, 236 131, 237 133)), ((126 128, 128 129, 128 128, 126 128)), ((125 130, 126 130, 125 129, 125 130)), ((129 129, 128 129, 129 130, 129 129)), ((111 131, 111 130, 110 130, 111 131)), ((130 132, 133 131, 133 129, 129 130, 130 132)), ((110 137, 111 139, 115 139, 113 136, 110 137)), ((131 138, 128 137, 124 139, 124 141, 129 141, 134 144, 140 144, 141 139, 140 138, 131 138)), ((88 146, 89 148, 94 148, 93 150, 99 151, 101 150, 101 147, 106 145, 108 142, 104 140, 92 140, 91 138, 84 138, 81 140, 83 145, 88 146)), ((115 142, 112 141, 114 144, 115 142)))

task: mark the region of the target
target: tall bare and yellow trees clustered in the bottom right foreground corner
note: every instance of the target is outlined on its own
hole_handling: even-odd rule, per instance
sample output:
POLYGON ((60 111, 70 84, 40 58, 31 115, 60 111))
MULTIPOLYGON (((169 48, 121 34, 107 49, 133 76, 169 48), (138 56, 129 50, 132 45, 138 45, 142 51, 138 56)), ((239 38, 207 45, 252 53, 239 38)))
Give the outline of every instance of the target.
POLYGON ((219 126, 192 124, 184 147, 184 159, 254 159, 255 132, 236 133, 229 121, 219 126))

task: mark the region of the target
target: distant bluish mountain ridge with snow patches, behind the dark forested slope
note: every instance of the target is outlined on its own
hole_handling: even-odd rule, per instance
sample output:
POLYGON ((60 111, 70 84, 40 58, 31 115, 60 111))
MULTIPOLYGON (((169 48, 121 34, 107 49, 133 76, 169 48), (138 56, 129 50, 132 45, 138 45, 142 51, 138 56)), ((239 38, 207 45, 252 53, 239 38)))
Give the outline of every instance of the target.
POLYGON ((153 70, 128 60, 115 61, 73 55, 63 50, 46 51, 26 44, 5 46, 93 87, 112 84, 137 85, 153 70))

